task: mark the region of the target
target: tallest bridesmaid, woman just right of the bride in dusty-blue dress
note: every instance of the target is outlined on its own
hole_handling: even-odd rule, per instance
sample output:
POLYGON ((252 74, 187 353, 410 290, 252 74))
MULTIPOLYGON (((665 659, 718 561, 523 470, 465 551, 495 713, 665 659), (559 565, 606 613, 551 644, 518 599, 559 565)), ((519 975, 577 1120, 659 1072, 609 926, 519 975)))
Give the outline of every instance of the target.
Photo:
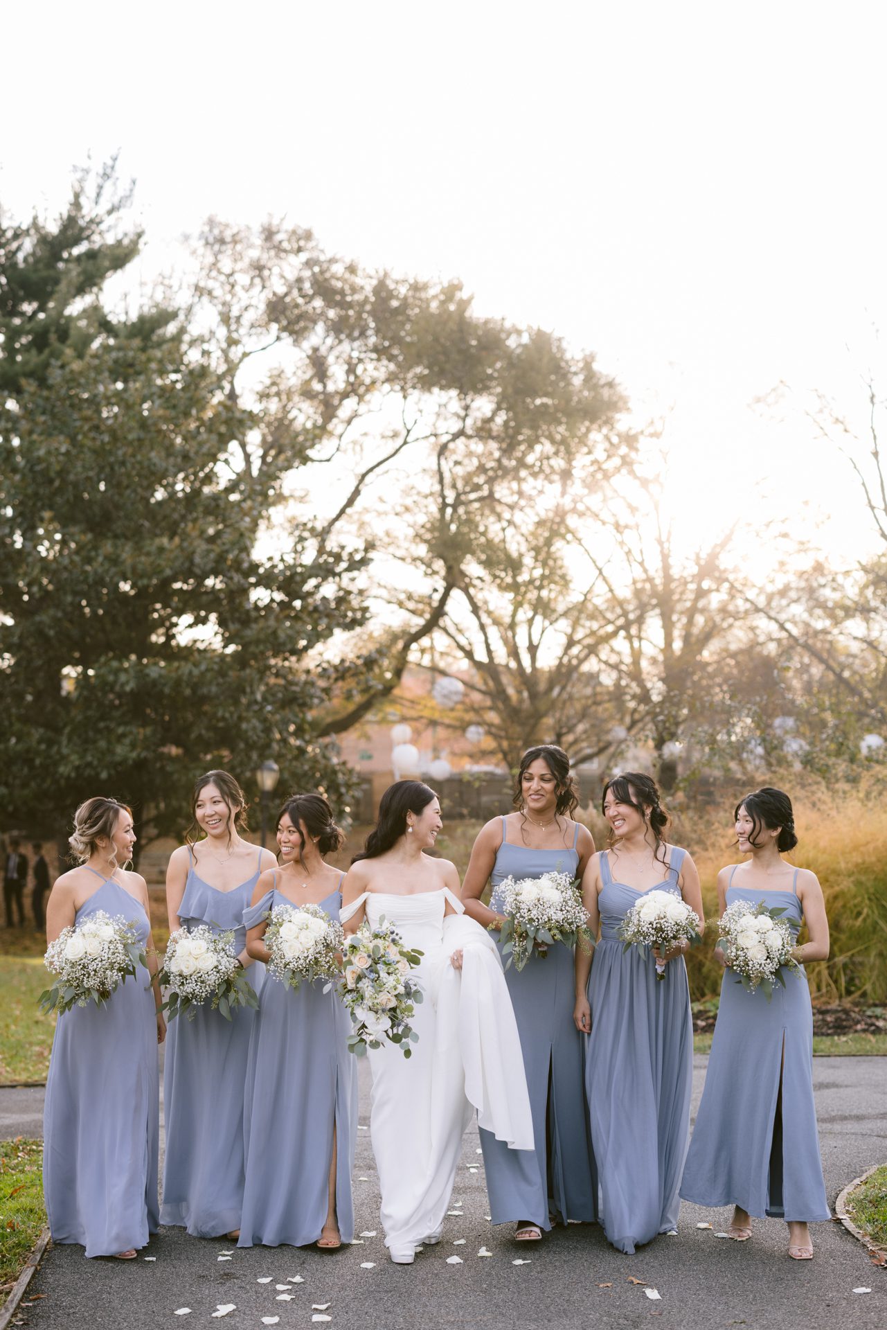
MULTIPOLYGON (((527 749, 515 783, 516 813, 493 818, 477 835, 465 882, 465 914, 499 928, 499 884, 543 872, 581 876, 594 854, 590 831, 572 821, 578 799, 569 758, 556 743, 527 749), (489 907, 480 895, 487 882, 489 907)), ((582 1041, 573 1028, 573 954, 563 943, 532 955, 519 972, 505 971, 517 1019, 533 1113, 535 1153, 511 1150, 481 1129, 484 1170, 493 1224, 516 1222, 515 1237, 539 1241, 552 1218, 596 1217, 594 1161, 582 1088, 582 1041)))

